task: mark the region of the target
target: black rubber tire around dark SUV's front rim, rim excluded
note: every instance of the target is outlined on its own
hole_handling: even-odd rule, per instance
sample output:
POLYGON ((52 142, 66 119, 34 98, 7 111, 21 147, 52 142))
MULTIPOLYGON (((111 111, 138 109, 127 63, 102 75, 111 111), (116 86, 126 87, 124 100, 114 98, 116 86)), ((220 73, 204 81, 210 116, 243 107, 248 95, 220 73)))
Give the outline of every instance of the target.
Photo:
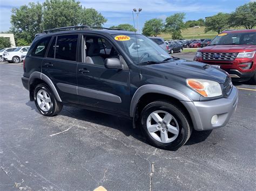
POLYGON ((179 147, 183 146, 187 142, 192 133, 192 125, 190 122, 190 118, 187 116, 186 112, 181 109, 178 104, 173 104, 165 100, 154 101, 146 105, 146 107, 142 111, 140 122, 142 123, 141 129, 143 135, 146 137, 149 144, 164 150, 178 150, 179 147), (176 118, 176 121, 178 122, 179 134, 178 137, 174 139, 171 143, 159 142, 158 140, 154 139, 150 135, 150 132, 147 130, 147 118, 153 111, 158 110, 169 112, 169 114, 176 118))

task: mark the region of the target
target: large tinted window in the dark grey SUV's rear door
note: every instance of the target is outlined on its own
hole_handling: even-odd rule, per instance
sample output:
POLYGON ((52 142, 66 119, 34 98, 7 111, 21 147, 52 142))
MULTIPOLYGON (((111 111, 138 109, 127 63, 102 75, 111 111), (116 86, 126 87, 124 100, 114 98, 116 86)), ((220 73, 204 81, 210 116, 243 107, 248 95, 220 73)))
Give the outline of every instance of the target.
POLYGON ((55 58, 76 61, 78 35, 63 35, 57 37, 55 58))

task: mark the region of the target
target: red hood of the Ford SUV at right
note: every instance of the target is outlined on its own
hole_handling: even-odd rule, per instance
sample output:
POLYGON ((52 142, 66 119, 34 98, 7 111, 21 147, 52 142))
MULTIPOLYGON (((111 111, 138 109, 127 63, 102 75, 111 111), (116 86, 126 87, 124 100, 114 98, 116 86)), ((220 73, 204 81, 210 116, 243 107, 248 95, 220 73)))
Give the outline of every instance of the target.
POLYGON ((199 50, 200 52, 251 52, 256 51, 256 45, 210 45, 199 50))

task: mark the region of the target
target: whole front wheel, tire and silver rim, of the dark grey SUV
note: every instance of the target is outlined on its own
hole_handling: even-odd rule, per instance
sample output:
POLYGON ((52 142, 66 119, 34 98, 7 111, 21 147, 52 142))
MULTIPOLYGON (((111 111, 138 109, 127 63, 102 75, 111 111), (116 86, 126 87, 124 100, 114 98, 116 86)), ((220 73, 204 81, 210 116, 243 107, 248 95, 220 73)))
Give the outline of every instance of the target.
POLYGON ((141 123, 147 141, 166 150, 177 150, 183 146, 192 132, 186 112, 168 101, 155 101, 146 105, 141 123))

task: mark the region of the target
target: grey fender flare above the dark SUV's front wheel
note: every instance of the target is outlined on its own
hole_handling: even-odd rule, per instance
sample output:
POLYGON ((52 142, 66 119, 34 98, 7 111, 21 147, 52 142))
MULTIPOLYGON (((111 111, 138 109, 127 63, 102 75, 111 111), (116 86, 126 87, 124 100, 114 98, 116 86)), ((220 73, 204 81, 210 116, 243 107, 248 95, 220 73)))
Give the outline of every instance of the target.
POLYGON ((132 97, 132 101, 130 105, 130 117, 134 117, 135 110, 140 97, 148 93, 163 94, 163 95, 174 97, 180 101, 192 102, 192 100, 189 97, 187 97, 185 94, 181 93, 176 89, 172 89, 169 87, 160 86, 156 84, 146 84, 144 86, 139 87, 132 97))

